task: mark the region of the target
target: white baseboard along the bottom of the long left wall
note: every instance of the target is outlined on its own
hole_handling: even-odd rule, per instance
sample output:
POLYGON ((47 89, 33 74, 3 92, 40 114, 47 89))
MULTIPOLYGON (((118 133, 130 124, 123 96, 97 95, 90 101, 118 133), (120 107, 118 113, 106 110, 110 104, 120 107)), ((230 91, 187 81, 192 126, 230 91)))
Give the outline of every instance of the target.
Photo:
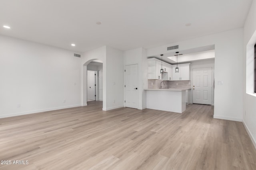
POLYGON ((50 109, 41 109, 41 110, 34 110, 34 111, 24 111, 24 112, 20 112, 20 113, 11 113, 11 114, 8 114, 8 115, 0 115, 0 118, 13 117, 13 116, 20 116, 20 115, 28 115, 28 114, 40 113, 40 112, 44 112, 44 111, 53 111, 53 110, 60 110, 60 109, 68 109, 68 108, 80 107, 80 106, 81 106, 81 104, 78 104, 78 105, 71 105, 71 106, 63 106, 63 107, 54 107, 54 108, 50 108, 50 109))

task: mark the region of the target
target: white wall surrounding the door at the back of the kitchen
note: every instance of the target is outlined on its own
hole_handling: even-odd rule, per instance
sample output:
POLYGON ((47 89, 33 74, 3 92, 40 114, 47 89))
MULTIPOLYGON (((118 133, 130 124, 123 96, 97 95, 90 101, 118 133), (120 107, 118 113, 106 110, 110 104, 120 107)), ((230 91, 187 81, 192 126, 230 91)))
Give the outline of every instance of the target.
MULTIPOLYGON (((214 52, 214 51, 213 51, 214 52)), ((214 55, 214 54, 213 54, 214 55)), ((204 67, 212 67, 212 105, 214 105, 214 59, 202 60, 202 61, 194 61, 190 64, 190 80, 191 80, 191 92, 193 93, 193 68, 204 68, 204 67)), ((190 101, 192 103, 193 98, 192 94, 190 95, 190 101)))

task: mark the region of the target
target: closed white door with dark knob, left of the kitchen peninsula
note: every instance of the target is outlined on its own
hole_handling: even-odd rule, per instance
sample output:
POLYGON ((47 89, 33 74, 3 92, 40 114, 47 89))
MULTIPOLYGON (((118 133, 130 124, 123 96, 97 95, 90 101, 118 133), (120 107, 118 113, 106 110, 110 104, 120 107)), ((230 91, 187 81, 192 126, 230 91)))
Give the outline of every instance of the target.
POLYGON ((124 72, 124 95, 125 107, 138 109, 139 90, 138 90, 138 64, 125 66, 124 72))

